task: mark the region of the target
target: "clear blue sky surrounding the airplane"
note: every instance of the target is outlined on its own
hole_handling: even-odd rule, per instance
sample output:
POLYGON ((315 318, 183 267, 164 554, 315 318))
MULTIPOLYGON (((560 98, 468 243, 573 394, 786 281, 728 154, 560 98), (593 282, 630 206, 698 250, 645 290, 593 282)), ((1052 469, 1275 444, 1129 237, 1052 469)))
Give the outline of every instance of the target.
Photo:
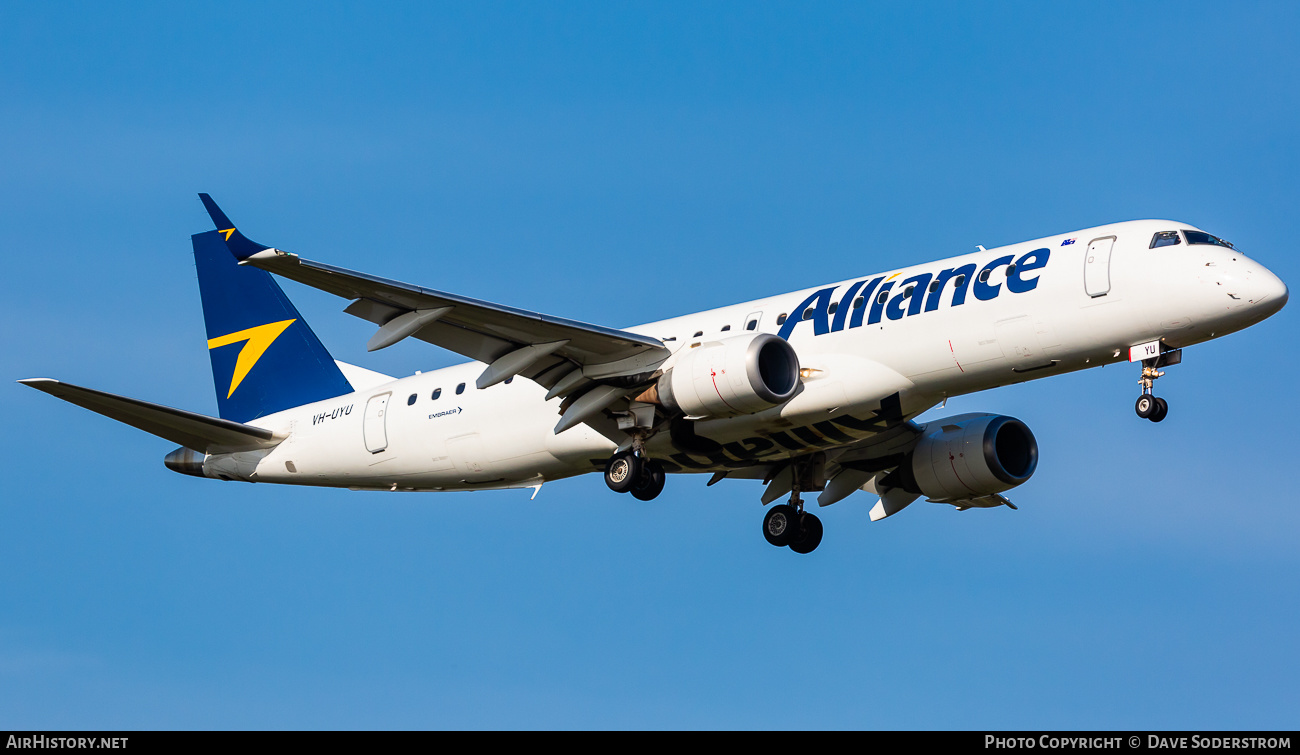
MULTIPOLYGON (((0 5, 0 374, 216 412, 208 191, 312 259, 624 326, 1139 217, 1300 282, 1294 3, 0 5)), ((338 359, 454 364, 285 285, 338 359)), ((1019 511, 594 476, 386 495, 173 474, 0 390, 0 726, 1300 725, 1295 305, 1024 420, 1019 511)))

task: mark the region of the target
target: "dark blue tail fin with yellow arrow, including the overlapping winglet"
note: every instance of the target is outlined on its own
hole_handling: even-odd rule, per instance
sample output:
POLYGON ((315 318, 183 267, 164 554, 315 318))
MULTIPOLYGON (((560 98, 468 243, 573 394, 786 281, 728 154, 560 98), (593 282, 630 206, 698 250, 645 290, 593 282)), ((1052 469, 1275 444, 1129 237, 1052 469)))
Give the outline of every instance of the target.
MULTIPOLYGON (((238 231, 231 233, 234 226, 207 195, 200 196, 218 226, 191 239, 221 418, 247 422, 352 392, 270 273, 235 261, 226 244, 238 231)), ((266 248, 238 238, 256 246, 254 251, 266 248)))

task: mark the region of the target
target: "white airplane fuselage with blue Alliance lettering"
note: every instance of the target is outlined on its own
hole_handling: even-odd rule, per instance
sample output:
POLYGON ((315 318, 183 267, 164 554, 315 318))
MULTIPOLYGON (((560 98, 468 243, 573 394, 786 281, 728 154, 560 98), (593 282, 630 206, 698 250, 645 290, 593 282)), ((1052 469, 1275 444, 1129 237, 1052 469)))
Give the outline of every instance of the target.
MULTIPOLYGON (((784 335, 802 366, 802 390, 788 403, 696 422, 718 450, 686 452, 659 433, 647 452, 670 472, 718 472, 842 446, 874 431, 872 411, 894 392, 911 417, 948 396, 1124 361, 1135 344, 1200 343, 1286 303, 1286 286, 1236 250, 1149 248, 1156 233, 1182 229, 1195 230, 1114 224, 629 327, 677 352, 745 334, 757 320, 753 330, 784 335), (1010 264, 1018 265, 1009 273, 1010 264)), ((560 399, 545 400, 529 379, 477 390, 484 366, 416 374, 254 420, 287 439, 269 451, 209 455, 204 470, 291 485, 486 490, 603 467, 611 439, 586 425, 555 434, 560 399)))

